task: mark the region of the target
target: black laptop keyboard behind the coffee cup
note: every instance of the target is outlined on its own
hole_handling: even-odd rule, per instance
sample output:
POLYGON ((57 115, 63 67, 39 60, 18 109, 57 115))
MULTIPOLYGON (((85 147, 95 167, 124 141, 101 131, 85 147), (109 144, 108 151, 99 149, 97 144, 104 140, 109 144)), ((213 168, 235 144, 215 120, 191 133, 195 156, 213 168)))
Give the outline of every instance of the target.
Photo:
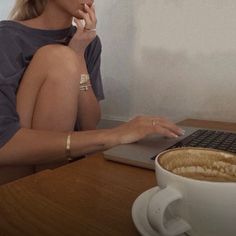
POLYGON ((236 153, 236 133, 199 129, 168 149, 202 147, 236 153))

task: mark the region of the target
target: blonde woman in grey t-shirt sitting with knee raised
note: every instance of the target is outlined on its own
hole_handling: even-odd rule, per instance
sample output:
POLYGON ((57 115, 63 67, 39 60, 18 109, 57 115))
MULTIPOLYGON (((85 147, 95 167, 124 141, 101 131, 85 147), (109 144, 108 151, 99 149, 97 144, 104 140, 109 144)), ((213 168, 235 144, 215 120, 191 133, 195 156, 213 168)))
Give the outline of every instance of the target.
POLYGON ((96 130, 103 99, 96 21, 93 0, 17 0, 11 20, 0 23, 1 173, 19 177, 29 166, 182 134, 156 116, 96 130))

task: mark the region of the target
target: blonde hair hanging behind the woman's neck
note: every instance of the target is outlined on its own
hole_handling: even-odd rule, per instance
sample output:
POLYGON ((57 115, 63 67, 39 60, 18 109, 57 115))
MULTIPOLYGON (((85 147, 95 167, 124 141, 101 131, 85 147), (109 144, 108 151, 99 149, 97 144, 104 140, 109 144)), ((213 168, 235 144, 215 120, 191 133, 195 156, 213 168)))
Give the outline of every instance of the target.
POLYGON ((29 20, 42 14, 47 0, 16 0, 10 20, 29 20))

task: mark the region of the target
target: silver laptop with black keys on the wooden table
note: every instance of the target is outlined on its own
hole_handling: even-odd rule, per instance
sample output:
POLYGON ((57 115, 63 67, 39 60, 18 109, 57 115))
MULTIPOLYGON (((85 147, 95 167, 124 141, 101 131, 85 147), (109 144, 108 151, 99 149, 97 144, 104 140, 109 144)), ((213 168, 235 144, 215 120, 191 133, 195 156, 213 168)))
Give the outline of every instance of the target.
POLYGON ((196 146, 236 153, 236 133, 206 128, 183 127, 185 135, 177 138, 152 136, 133 144, 119 145, 104 152, 107 160, 154 169, 155 157, 170 148, 196 146))

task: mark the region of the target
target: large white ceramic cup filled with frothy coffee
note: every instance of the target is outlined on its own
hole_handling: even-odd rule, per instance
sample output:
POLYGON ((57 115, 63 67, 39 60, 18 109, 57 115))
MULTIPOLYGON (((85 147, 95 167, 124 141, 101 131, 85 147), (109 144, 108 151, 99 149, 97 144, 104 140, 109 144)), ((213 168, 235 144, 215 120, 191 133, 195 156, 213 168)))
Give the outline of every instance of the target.
MULTIPOLYGON (((236 235, 235 160, 235 155, 201 148, 173 149, 159 154, 155 160, 155 170, 160 191, 151 198, 147 208, 152 228, 164 236, 183 233, 190 236, 236 235), (190 167, 188 157, 201 161, 207 157, 209 161, 201 167, 190 167), (219 158, 217 163, 212 161, 215 157, 219 158), (172 167, 177 166, 171 170, 173 172, 167 170, 168 165, 164 163, 169 163, 171 158, 175 160, 172 167), (181 168, 184 163, 181 160, 185 160, 188 167, 181 168), (229 164, 228 160, 233 161, 233 164, 229 164), (214 168, 209 171, 207 165, 216 166, 214 168, 217 171, 214 168), (224 168, 230 173, 229 179, 224 168), (191 177, 177 175, 175 171, 182 171, 191 177), (209 179, 205 179, 203 171, 209 179), (199 175, 200 179, 192 179, 192 172, 199 175), (221 174, 223 177, 219 176, 221 174)), ((170 166, 168 168, 172 168, 170 166)))

